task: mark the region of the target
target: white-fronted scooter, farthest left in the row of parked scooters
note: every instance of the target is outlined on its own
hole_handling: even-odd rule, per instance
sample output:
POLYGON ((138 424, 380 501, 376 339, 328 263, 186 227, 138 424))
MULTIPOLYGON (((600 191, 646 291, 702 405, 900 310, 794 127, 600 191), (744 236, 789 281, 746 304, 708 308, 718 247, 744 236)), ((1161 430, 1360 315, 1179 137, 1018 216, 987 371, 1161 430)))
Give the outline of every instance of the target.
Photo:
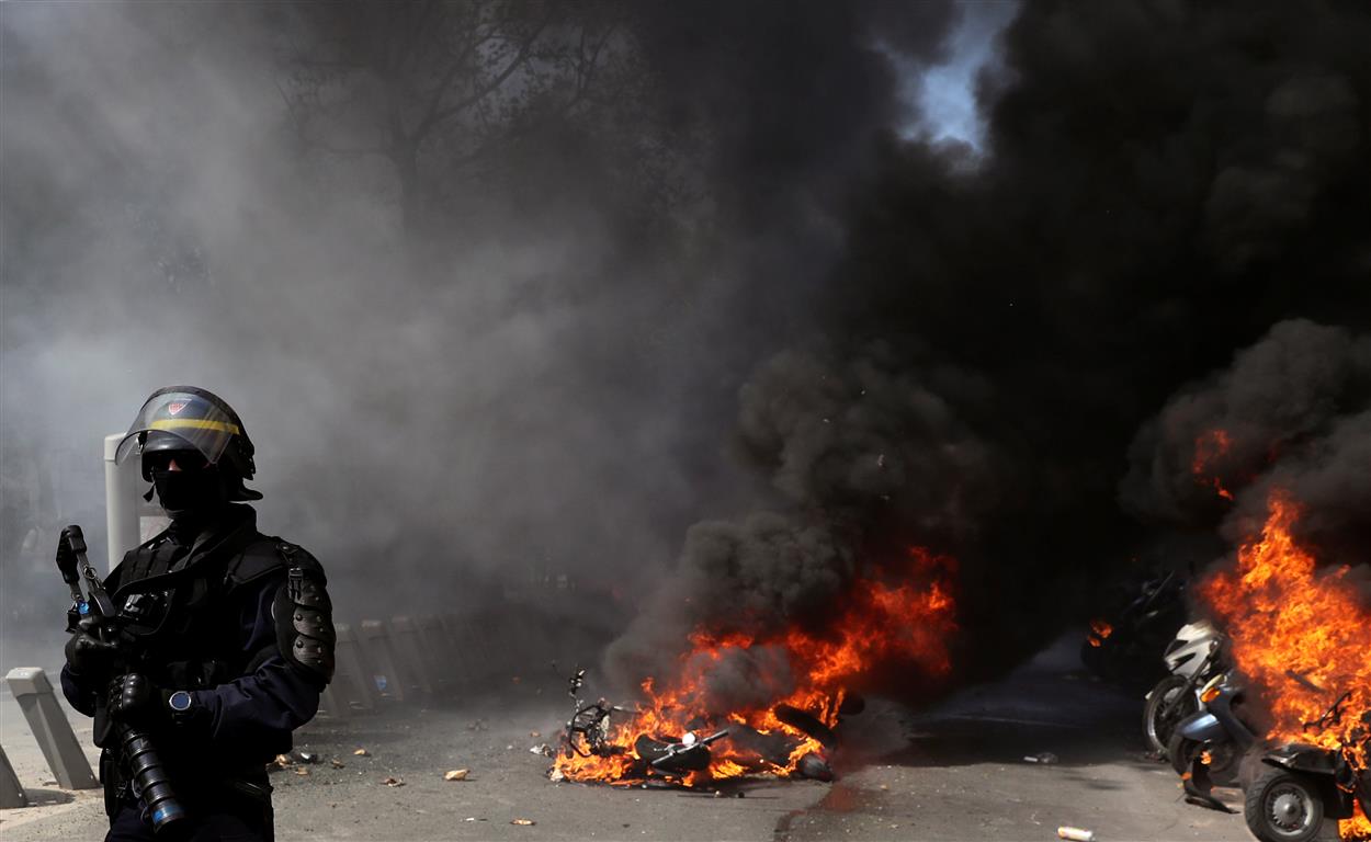
POLYGON ((1175 640, 1163 653, 1171 672, 1143 697, 1142 732, 1158 756, 1176 725, 1200 709, 1200 690, 1217 672, 1226 669, 1224 636, 1209 621, 1180 627, 1175 640))

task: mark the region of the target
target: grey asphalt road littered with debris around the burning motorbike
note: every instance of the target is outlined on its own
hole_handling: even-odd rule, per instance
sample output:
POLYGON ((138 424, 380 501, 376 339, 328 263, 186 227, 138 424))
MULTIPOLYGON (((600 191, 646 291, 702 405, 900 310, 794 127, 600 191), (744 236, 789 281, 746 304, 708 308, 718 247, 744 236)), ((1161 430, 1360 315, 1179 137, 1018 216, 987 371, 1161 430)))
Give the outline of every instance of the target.
MULTIPOLYGON (((862 725, 847 734, 849 760, 834 784, 760 780, 727 797, 547 780, 548 760, 529 749, 555 730, 561 699, 524 693, 498 706, 311 724, 296 743, 322 762, 299 767, 307 775, 273 773, 277 838, 1019 842, 1054 839, 1071 824, 1101 842, 1250 839, 1241 816, 1180 799, 1169 768, 1142 754, 1139 701, 1083 676, 1069 639, 921 716, 873 703, 853 720, 862 725), (1057 762, 1024 761, 1043 751, 1057 762), (443 780, 455 768, 470 769, 469 779, 443 780)), ((99 838, 99 797, 41 786, 41 761, 11 747, 21 735, 12 699, 3 702, 0 734, 22 782, 60 802, 0 813, 0 837, 99 838)), ((1220 795, 1233 805, 1241 797, 1220 795)))

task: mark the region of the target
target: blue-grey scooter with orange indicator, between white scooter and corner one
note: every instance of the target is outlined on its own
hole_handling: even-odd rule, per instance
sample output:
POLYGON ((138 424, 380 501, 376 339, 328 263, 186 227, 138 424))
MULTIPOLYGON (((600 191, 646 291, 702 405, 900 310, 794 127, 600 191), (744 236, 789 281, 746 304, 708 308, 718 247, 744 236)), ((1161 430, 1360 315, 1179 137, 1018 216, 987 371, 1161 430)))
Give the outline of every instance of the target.
POLYGON ((1186 778, 1187 795, 1205 798, 1212 784, 1237 782, 1242 756, 1257 742, 1257 735, 1234 710, 1243 691, 1231 672, 1216 675, 1200 690, 1201 709, 1171 734, 1167 756, 1171 768, 1186 778))

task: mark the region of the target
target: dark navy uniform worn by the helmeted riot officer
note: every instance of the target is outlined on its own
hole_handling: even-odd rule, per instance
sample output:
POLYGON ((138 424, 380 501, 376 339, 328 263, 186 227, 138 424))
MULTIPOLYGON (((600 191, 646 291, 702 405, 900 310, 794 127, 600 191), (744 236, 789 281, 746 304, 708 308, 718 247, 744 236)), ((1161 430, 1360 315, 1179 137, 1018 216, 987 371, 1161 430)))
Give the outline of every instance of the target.
MULTIPOLYGON (((270 784, 265 767, 291 749, 291 732, 318 710, 332 669, 311 669, 292 655, 304 643, 326 646, 332 621, 318 562, 304 550, 256 531, 255 512, 228 506, 195 535, 177 525, 132 550, 106 588, 126 617, 140 653, 136 668, 166 691, 186 690, 191 708, 152 734, 177 797, 191 813, 196 839, 271 838, 270 784), (303 579, 302 579, 303 577, 303 579), (302 638, 292 595, 299 583, 325 609, 325 640, 302 638), (274 609, 273 609, 274 606, 274 609)), ((77 710, 96 717, 101 780, 111 812, 108 839, 151 839, 152 827, 121 778, 101 721, 107 679, 62 671, 62 691, 77 710)))

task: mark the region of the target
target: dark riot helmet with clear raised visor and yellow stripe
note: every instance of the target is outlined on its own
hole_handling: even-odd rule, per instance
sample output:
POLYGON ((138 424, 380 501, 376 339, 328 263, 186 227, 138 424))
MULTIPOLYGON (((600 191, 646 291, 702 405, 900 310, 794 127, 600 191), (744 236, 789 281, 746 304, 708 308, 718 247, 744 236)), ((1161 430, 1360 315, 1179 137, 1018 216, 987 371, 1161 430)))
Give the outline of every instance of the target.
POLYGON ((138 410, 114 461, 143 458, 143 479, 152 481, 152 459, 162 453, 188 453, 218 469, 229 501, 258 501, 262 495, 243 485, 252 479, 252 440, 239 414, 222 398, 191 385, 160 388, 138 410))

